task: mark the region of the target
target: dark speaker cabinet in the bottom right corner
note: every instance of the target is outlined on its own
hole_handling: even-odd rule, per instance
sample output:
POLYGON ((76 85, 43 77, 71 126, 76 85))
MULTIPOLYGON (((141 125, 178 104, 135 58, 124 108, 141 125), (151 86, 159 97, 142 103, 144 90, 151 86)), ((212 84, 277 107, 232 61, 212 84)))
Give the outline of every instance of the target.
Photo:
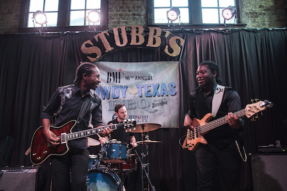
POLYGON ((287 190, 286 154, 251 154, 253 191, 287 190))

